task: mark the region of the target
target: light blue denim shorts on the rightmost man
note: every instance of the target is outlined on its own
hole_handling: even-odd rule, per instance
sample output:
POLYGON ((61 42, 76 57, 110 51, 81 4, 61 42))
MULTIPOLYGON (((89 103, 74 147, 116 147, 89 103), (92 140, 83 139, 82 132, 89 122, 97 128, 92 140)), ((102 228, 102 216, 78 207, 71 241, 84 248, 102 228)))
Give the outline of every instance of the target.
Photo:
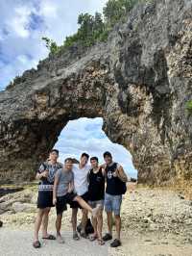
POLYGON ((106 212, 113 212, 115 216, 120 216, 122 203, 122 194, 112 195, 106 192, 105 194, 105 210, 106 212))

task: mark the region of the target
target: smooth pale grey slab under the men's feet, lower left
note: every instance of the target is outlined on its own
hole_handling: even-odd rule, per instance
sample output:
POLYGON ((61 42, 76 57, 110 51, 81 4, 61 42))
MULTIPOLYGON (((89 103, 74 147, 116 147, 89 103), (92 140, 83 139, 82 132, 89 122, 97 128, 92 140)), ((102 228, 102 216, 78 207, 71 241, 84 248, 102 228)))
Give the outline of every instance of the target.
POLYGON ((108 245, 99 246, 96 242, 90 243, 88 240, 74 242, 71 232, 64 232, 64 244, 57 241, 41 241, 42 247, 35 249, 32 246, 33 231, 12 230, 2 228, 0 230, 0 255, 2 256, 106 256, 108 255, 108 245))

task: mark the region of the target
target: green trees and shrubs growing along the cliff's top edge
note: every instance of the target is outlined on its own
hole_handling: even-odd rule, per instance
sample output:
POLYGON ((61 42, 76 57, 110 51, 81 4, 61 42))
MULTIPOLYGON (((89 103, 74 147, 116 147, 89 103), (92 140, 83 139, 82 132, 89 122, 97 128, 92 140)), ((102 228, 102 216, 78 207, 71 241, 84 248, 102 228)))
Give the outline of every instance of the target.
POLYGON ((60 50, 78 44, 89 47, 97 41, 106 41, 108 34, 114 25, 120 21, 125 21, 126 14, 129 13, 134 5, 147 0, 108 0, 102 13, 81 13, 78 17, 79 29, 76 34, 66 37, 63 44, 58 46, 57 43, 43 37, 46 47, 51 54, 60 52, 60 50))

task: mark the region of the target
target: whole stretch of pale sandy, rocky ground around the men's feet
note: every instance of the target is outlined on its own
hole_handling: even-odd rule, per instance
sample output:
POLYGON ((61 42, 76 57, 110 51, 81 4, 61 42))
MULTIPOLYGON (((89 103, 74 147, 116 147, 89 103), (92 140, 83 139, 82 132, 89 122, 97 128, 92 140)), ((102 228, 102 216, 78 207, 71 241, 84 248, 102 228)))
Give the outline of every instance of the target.
MULTIPOLYGON (((121 210, 122 246, 118 248, 111 248, 110 242, 103 246, 84 239, 74 242, 71 238, 71 209, 68 208, 62 221, 65 243, 41 241, 42 247, 35 249, 32 243, 36 190, 9 194, 3 197, 3 201, 0 202, 0 209, 6 208, 7 211, 0 215, 4 222, 0 228, 0 256, 192 256, 192 202, 181 199, 177 192, 149 188, 136 188, 133 194, 127 192, 121 210), (25 203, 25 210, 15 212, 25 203)), ((55 234, 55 218, 56 212, 52 209, 49 221, 49 232, 52 234, 55 234)), ((81 213, 78 219, 80 222, 81 213)), ((103 233, 107 230, 104 213, 103 233)))

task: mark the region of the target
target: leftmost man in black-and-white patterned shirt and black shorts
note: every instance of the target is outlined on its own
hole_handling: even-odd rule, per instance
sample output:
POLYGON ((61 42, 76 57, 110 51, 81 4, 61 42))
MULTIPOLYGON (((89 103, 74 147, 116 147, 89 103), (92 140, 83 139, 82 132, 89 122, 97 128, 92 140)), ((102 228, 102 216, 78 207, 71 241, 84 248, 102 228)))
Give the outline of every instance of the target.
POLYGON ((39 180, 38 197, 37 197, 37 216, 35 222, 35 239, 33 246, 41 246, 38 240, 38 232, 42 223, 42 239, 56 240, 55 236, 47 233, 49 212, 53 205, 53 185, 55 174, 62 167, 58 163, 59 150, 53 149, 49 154, 49 160, 42 163, 36 173, 36 179, 39 180))

